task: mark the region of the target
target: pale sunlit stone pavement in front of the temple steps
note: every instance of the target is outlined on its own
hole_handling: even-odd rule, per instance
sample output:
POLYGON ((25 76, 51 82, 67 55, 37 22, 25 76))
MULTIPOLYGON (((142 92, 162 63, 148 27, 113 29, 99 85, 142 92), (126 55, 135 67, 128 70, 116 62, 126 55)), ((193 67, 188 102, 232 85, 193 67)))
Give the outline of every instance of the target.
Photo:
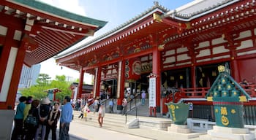
MULTIPOLYGON (((88 120, 90 121, 90 120, 88 120)), ((69 128, 70 140, 102 140, 102 139, 138 139, 138 140, 170 140, 178 139, 171 138, 167 131, 159 131, 148 128, 128 129, 127 127, 120 128, 116 126, 104 125, 99 128, 99 125, 91 125, 85 120, 75 119, 70 123, 69 128), (87 123, 87 124, 86 124, 87 123)), ((198 138, 192 139, 197 140, 198 138)))

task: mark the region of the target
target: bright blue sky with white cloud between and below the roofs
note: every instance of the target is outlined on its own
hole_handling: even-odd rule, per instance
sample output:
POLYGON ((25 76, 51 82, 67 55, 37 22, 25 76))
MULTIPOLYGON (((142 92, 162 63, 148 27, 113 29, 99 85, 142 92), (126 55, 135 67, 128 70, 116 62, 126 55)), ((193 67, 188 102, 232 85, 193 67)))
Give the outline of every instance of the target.
MULTIPOLYGON (((93 37, 89 37, 83 42, 80 42, 74 47, 78 47, 81 44, 93 39, 96 36, 104 34, 122 23, 126 23, 128 20, 140 15, 148 8, 154 6, 154 0, 39 0, 47 4, 51 4, 54 7, 65 9, 69 12, 74 12, 79 15, 83 15, 89 18, 95 18, 98 20, 107 21, 107 25, 97 31, 93 37)), ((159 4, 167 9, 176 9, 184 4, 189 3, 192 0, 158 0, 159 4)), ((72 48, 74 48, 72 47, 72 48)), ((69 50, 72 50, 69 49, 69 50)), ((57 75, 66 75, 77 79, 79 72, 68 68, 60 69, 61 66, 57 66, 54 59, 50 58, 47 61, 41 63, 40 73, 49 74, 54 78, 57 75), (49 69, 49 67, 56 69, 49 69), (68 75, 67 75, 68 74, 68 75)), ((86 83, 90 83, 90 78, 85 78, 86 83), (87 81, 88 80, 88 81, 87 81)))

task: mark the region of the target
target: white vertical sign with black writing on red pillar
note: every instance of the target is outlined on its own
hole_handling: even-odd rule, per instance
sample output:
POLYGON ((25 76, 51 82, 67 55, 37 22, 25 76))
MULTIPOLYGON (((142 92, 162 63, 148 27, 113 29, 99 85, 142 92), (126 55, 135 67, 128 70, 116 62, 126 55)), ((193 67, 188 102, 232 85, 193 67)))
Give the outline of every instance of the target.
POLYGON ((149 107, 156 107, 156 83, 157 78, 156 77, 150 77, 149 78, 149 107))

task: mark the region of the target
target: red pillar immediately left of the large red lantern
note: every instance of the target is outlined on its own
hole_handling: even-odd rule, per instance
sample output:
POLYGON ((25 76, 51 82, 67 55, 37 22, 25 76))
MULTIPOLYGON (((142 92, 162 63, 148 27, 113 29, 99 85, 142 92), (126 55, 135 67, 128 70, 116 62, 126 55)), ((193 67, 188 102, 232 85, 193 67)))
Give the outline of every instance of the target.
POLYGON ((117 110, 122 109, 122 100, 124 98, 124 82, 125 82, 125 60, 118 63, 118 85, 120 96, 117 99, 117 110), (120 68, 121 67, 121 68, 120 68))

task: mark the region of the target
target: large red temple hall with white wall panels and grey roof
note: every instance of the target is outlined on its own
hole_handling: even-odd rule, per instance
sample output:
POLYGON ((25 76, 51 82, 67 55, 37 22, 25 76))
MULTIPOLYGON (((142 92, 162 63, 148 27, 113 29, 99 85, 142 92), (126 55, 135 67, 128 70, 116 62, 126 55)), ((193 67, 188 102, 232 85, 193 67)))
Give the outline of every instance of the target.
MULTIPOLYGON (((173 97, 163 96, 163 91, 174 87, 179 90, 175 101, 192 102, 189 115, 207 118, 214 114, 205 96, 219 65, 230 69, 236 82, 249 81, 246 92, 255 97, 255 7, 254 0, 206 0, 170 10, 155 2, 78 50, 57 55, 56 62, 80 71, 79 85, 84 73, 93 74, 94 97, 108 85, 110 96, 118 100, 117 109, 124 90, 132 88, 135 94, 149 92, 154 96, 152 109, 165 114, 165 102, 173 97)), ((255 109, 255 103, 252 98, 244 104, 255 109)))

